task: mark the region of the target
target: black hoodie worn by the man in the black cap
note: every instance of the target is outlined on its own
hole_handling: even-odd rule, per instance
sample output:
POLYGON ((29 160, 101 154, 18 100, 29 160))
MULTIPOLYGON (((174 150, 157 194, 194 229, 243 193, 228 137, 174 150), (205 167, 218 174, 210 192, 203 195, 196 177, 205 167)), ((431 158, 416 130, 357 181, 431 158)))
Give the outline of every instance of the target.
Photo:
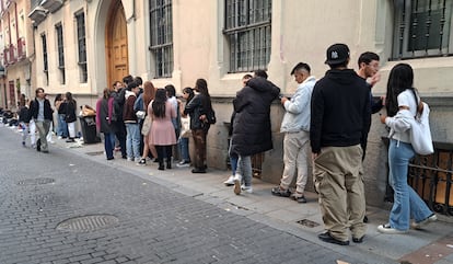
POLYGON ((370 90, 353 70, 333 69, 316 82, 312 94, 312 152, 322 147, 367 145, 371 123, 370 90))

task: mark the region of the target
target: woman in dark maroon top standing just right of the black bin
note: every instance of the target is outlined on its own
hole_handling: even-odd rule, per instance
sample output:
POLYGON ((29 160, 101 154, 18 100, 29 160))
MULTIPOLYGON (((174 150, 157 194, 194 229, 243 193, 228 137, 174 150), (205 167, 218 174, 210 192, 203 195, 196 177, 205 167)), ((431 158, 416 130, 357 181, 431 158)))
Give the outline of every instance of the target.
POLYGON ((116 126, 113 120, 114 97, 111 89, 104 89, 103 96, 96 102, 96 128, 104 134, 104 149, 107 160, 114 159, 116 126))

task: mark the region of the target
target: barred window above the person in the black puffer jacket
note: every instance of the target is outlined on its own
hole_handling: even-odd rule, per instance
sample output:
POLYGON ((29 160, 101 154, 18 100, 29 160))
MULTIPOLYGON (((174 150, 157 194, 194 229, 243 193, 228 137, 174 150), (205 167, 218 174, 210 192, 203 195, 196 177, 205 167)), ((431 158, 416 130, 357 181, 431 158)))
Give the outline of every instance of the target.
POLYGON ((223 34, 230 72, 266 69, 270 60, 271 0, 225 0, 223 34))

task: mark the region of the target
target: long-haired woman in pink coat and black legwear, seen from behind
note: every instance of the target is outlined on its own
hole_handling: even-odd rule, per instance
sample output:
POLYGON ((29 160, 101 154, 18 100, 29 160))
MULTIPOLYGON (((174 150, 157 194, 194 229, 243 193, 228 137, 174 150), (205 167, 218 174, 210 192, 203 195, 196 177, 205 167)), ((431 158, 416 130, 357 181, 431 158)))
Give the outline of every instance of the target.
POLYGON ((149 145, 150 148, 155 146, 158 151, 159 170, 164 170, 164 154, 166 169, 172 169, 172 146, 176 144, 172 118, 176 117, 176 110, 166 99, 165 89, 155 91, 155 97, 148 106, 148 114, 152 116, 149 145))

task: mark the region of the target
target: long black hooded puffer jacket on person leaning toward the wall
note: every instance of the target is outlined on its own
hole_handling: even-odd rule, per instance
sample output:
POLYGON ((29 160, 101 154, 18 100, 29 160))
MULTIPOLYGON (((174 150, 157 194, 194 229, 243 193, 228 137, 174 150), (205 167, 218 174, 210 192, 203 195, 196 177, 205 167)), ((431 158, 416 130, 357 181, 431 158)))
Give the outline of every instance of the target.
POLYGON ((272 149, 270 104, 280 89, 270 81, 252 78, 233 101, 234 124, 231 152, 252 156, 272 149))

